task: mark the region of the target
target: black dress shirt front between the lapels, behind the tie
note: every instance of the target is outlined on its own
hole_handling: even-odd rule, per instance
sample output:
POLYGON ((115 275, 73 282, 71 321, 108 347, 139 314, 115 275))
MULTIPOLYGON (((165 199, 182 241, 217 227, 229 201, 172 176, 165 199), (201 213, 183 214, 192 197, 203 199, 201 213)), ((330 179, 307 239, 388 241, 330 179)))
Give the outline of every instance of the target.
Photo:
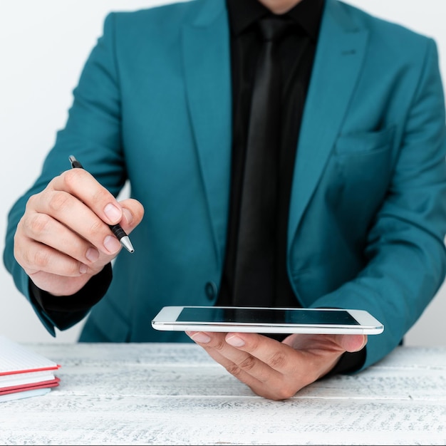
MULTIPOLYGON (((256 22, 273 15, 258 0, 227 0, 231 31, 232 63, 232 182, 229 210, 227 252, 217 305, 232 305, 234 268, 237 259, 237 234, 242 196, 244 159, 247 150, 247 129, 251 104, 254 68, 262 39, 256 22)), ((281 145, 277 150, 279 184, 276 221, 275 295, 257 306, 300 306, 286 274, 286 233, 289 198, 294 170, 296 145, 302 112, 316 51, 323 0, 302 0, 281 16, 291 22, 291 31, 281 40, 281 145)), ((255 285, 252 289, 255 293, 255 285)), ((242 302, 238 302, 243 305, 242 302)))

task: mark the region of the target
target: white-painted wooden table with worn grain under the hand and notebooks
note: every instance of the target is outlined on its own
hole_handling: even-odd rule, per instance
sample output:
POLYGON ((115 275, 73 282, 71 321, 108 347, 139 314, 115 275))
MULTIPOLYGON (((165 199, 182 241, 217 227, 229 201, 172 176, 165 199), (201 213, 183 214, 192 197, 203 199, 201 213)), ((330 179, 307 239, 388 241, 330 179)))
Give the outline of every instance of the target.
POLYGON ((26 344, 61 364, 47 395, 0 403, 1 445, 446 445, 446 348, 274 402, 186 344, 26 344))

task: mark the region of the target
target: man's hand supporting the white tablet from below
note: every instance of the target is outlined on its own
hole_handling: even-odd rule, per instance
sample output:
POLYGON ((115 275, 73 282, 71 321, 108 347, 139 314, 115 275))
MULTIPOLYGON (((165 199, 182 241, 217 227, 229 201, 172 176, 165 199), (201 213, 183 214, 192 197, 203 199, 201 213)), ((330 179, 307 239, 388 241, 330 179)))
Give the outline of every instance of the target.
POLYGON ((264 398, 284 400, 326 375, 346 351, 360 351, 365 335, 291 334, 284 341, 256 333, 187 335, 251 390, 264 398))

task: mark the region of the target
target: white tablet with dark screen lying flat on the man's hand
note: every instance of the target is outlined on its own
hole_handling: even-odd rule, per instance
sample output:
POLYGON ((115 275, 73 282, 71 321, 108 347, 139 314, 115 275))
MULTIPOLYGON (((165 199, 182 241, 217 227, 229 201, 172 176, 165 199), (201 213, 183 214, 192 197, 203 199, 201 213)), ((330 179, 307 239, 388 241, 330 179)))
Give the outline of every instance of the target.
POLYGON ((161 331, 379 334, 384 326, 364 310, 165 306, 153 318, 161 331))

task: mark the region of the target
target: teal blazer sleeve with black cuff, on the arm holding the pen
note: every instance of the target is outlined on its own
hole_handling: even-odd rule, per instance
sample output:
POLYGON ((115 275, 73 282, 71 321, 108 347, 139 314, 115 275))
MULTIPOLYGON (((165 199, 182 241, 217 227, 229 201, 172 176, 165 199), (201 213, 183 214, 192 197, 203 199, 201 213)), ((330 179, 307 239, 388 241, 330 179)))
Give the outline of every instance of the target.
MULTIPOLYGON (((96 280, 79 291, 83 295, 66 299, 66 308, 54 307, 49 295, 36 286, 14 259, 14 234, 24 214, 28 198, 41 192, 53 177, 69 168, 68 156, 76 154, 96 179, 117 196, 125 184, 125 163, 120 138, 120 90, 113 48, 114 17, 105 19, 103 36, 85 62, 78 85, 73 90, 73 105, 65 128, 59 131, 56 143, 48 152, 41 175, 20 197, 8 215, 4 264, 12 274, 17 289, 30 301, 38 318, 52 336, 55 327, 66 329, 83 319, 105 294, 111 281, 111 267, 106 267, 96 280), (98 286, 98 281, 103 284, 98 286), (85 297, 87 296, 88 297, 85 297), (82 308, 73 302, 81 299, 82 308)), ((63 301, 58 298, 58 301, 63 301)))

